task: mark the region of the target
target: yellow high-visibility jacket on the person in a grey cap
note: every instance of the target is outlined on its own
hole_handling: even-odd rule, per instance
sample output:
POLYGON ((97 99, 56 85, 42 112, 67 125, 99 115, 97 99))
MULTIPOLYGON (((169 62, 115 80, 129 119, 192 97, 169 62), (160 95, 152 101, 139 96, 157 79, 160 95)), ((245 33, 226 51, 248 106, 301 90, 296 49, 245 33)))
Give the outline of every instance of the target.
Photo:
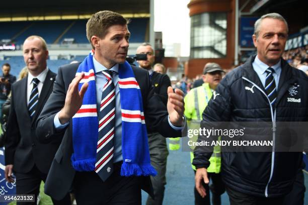
MULTIPOLYGON (((202 86, 191 89, 184 98, 185 111, 184 115, 187 120, 188 127, 190 122, 200 122, 202 120, 202 113, 212 97, 212 90, 208 83, 203 83, 202 86)), ((194 136, 191 140, 197 141, 198 136, 194 136)), ((219 138, 218 138, 219 139, 219 138)), ((193 150, 194 147, 191 147, 193 150)), ((191 163, 194 159, 193 152, 190 153, 191 163)), ((213 154, 209 159, 210 166, 207 168, 208 172, 219 173, 221 165, 220 146, 214 146, 213 154)), ((194 170, 196 167, 191 165, 194 170)))

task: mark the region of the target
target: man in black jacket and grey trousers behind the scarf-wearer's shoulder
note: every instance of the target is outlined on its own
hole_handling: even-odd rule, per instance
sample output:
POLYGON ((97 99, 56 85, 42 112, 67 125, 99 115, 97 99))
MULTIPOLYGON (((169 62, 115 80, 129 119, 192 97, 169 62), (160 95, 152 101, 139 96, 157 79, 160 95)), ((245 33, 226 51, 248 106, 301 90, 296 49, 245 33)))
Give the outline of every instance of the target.
MULTIPOLYGON (((144 70, 147 70, 150 76, 151 84, 154 92, 160 96, 165 105, 167 105, 168 94, 167 89, 171 86, 170 78, 166 74, 153 71, 153 63, 155 60, 154 50, 148 43, 142 43, 136 51, 137 54, 146 54, 146 60, 138 60, 138 64, 144 70)), ((151 177, 154 197, 148 196, 146 204, 162 204, 164 200, 164 192, 166 182, 167 157, 169 155, 166 138, 157 130, 149 127, 147 129, 148 146, 150 150, 151 165, 158 170, 156 176, 151 177)), ((180 136, 178 136, 180 137, 180 136)))

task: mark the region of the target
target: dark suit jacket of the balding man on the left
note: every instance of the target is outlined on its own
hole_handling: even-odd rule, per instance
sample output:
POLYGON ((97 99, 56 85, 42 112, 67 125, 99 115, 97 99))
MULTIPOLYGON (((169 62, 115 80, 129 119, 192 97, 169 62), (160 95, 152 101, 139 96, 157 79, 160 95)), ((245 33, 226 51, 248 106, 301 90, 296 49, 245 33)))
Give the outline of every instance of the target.
POLYGON ((47 72, 34 117, 31 119, 27 106, 27 79, 23 78, 12 85, 12 101, 8 119, 5 149, 6 165, 13 164, 16 172, 27 173, 34 164, 48 173, 60 140, 42 144, 35 134, 35 121, 41 113, 53 87, 56 74, 47 72))

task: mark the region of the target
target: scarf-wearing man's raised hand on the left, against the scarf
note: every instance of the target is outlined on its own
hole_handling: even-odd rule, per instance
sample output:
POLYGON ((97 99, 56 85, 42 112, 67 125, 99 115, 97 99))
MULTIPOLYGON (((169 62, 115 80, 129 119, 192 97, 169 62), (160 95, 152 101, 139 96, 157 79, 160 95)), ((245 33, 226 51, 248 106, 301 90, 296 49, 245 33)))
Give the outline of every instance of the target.
POLYGON ((64 107, 59 112, 59 121, 61 124, 65 124, 70 118, 72 118, 83 104, 83 98, 89 84, 88 82, 85 82, 80 91, 78 90, 78 85, 84 76, 84 73, 76 76, 68 86, 64 107))

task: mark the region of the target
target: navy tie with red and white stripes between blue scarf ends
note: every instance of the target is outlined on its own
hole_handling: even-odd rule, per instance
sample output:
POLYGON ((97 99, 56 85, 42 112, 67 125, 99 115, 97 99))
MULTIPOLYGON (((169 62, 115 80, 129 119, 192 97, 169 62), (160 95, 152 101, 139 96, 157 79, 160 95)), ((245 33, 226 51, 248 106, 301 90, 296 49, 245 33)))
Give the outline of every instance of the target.
POLYGON ((113 152, 115 133, 115 86, 112 71, 102 71, 107 82, 103 87, 101 108, 99 112, 99 137, 95 171, 105 181, 113 172, 113 152))

